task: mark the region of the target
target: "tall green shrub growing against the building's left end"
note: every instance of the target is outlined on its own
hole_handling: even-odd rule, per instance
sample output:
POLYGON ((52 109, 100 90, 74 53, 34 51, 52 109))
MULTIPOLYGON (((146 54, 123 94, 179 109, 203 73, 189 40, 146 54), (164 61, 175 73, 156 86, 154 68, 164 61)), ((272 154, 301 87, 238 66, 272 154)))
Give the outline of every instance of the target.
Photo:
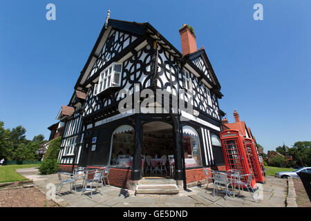
POLYGON ((41 175, 48 175, 56 173, 59 170, 59 163, 57 157, 60 146, 62 144, 62 137, 57 137, 50 141, 48 144, 48 150, 44 155, 44 160, 39 168, 41 175))

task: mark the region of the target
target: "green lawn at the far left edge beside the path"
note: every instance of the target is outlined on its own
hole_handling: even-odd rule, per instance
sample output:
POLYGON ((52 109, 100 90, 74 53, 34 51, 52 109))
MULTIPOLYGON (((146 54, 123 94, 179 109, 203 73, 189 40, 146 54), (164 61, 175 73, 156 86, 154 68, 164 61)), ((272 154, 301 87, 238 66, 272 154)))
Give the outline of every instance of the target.
POLYGON ((0 182, 15 182, 21 180, 28 180, 27 178, 17 173, 15 170, 38 166, 40 166, 40 164, 22 164, 22 165, 13 164, 13 165, 0 166, 0 182))

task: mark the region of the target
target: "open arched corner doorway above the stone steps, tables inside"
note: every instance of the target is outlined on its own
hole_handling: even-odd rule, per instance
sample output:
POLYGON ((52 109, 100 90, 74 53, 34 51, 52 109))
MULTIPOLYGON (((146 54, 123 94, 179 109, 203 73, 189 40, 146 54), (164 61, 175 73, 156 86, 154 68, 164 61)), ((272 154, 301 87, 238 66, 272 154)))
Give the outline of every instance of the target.
POLYGON ((173 126, 149 122, 142 128, 142 177, 174 177, 173 126))

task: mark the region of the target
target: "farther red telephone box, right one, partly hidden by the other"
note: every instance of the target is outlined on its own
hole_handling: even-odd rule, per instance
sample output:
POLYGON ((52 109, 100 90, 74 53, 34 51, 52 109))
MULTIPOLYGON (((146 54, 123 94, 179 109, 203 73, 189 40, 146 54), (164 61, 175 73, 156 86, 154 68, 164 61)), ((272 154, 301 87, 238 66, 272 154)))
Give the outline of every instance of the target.
POLYGON ((263 183, 265 182, 265 175, 263 173, 263 170, 261 169, 261 162, 259 162, 256 144, 254 140, 250 138, 244 138, 244 140, 247 148, 247 153, 252 164, 255 180, 256 182, 263 183))

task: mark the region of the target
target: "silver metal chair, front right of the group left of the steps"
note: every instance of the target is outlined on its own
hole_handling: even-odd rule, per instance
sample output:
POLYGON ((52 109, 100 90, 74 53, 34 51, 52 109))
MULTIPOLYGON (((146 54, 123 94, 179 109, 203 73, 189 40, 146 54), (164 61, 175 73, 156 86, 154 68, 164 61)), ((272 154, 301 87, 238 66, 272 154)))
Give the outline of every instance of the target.
POLYGON ((93 198, 93 185, 96 184, 96 189, 95 192, 98 189, 98 184, 101 184, 102 186, 102 192, 101 194, 103 195, 104 193, 104 184, 102 182, 102 178, 104 175, 104 169, 100 168, 97 169, 95 171, 86 171, 86 180, 85 180, 85 184, 84 187, 82 189, 82 193, 81 195, 85 192, 85 191, 91 191, 91 198, 93 198), (93 175, 94 174, 94 175, 93 175), (88 179, 88 176, 93 175, 92 179, 88 179), (90 188, 88 188, 88 184, 90 185, 90 188))

